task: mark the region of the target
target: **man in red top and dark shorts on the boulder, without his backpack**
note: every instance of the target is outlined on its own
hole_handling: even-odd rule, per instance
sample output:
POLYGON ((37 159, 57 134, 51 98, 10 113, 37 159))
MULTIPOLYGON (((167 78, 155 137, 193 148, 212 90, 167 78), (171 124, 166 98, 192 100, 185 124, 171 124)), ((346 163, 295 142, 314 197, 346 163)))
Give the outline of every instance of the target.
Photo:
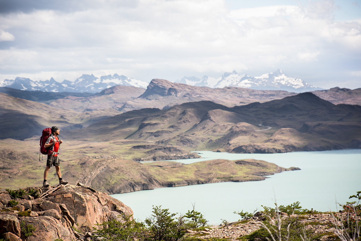
POLYGON ((48 148, 48 159, 46 162, 46 167, 44 170, 44 182, 43 187, 46 188, 49 186, 48 182, 46 181, 46 178, 48 176, 49 169, 52 165, 55 166, 56 174, 59 177, 59 185, 60 184, 67 184, 67 181, 64 181, 63 178, 61 178, 61 172, 60 172, 60 160, 58 158, 58 150, 61 143, 63 143, 62 140, 58 138, 58 135, 60 134, 60 129, 57 126, 52 126, 51 128, 51 135, 46 141, 44 147, 48 148))

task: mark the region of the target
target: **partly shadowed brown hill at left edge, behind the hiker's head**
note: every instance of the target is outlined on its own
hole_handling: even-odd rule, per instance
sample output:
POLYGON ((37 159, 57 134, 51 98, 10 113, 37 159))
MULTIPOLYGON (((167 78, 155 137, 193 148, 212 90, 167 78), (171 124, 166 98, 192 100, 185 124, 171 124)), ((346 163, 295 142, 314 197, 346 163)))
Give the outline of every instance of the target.
POLYGON ((53 108, 44 103, 15 98, 0 92, 0 139, 26 139, 41 135, 46 127, 57 125, 62 136, 69 130, 88 126, 118 113, 112 109, 97 109, 79 113, 72 109, 53 108))

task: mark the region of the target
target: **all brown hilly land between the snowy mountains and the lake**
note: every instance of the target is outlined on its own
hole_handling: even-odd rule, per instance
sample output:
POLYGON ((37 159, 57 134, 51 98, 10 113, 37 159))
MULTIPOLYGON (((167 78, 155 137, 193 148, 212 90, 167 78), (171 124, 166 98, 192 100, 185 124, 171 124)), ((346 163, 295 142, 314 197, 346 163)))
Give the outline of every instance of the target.
MULTIPOLYGON (((40 185, 39 137, 42 129, 52 125, 60 127, 64 140, 60 154, 63 176, 108 193, 262 180, 260 173, 286 169, 267 169, 271 167, 267 163, 255 169, 258 164, 248 163, 252 167, 246 172, 242 165, 228 160, 192 165, 139 161, 199 158, 190 152, 194 150, 359 149, 359 93, 360 89, 338 87, 301 94, 239 87, 211 89, 162 79, 153 79, 147 90, 118 85, 96 94, 2 87, 0 184, 10 188, 24 183, 40 185), (219 169, 218 165, 232 168, 219 169), (243 174, 235 173, 238 167, 243 174)), ((55 182, 56 175, 49 180, 55 182)))

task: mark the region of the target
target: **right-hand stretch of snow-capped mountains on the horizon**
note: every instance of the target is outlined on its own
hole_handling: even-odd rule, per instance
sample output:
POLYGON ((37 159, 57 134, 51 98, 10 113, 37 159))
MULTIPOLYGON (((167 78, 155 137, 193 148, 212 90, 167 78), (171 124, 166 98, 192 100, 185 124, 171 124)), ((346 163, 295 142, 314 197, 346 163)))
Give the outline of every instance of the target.
POLYGON ((203 78, 199 79, 194 76, 185 76, 175 82, 210 88, 242 87, 255 90, 286 90, 291 92, 322 90, 322 88, 310 85, 302 79, 288 77, 280 69, 274 73, 262 74, 260 77, 252 77, 248 74, 240 75, 233 71, 232 73, 224 73, 219 78, 203 76, 203 78))

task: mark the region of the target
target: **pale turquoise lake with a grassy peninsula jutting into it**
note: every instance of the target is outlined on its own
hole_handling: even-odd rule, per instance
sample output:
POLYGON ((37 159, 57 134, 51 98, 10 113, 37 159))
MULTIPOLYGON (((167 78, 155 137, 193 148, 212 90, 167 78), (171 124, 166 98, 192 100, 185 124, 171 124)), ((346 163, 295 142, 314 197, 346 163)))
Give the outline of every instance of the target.
POLYGON ((188 164, 212 159, 252 158, 301 170, 270 175, 263 181, 157 188, 111 196, 131 207, 134 217, 142 221, 152 214, 152 205, 185 214, 195 203, 195 209, 209 220, 209 224, 220 224, 221 219, 237 221, 239 215, 234 211, 263 210, 261 205, 274 207, 275 201, 278 205, 299 201, 303 208, 336 211, 336 202, 356 201, 348 197, 361 191, 361 149, 275 154, 194 152, 202 158, 174 161, 188 164))

